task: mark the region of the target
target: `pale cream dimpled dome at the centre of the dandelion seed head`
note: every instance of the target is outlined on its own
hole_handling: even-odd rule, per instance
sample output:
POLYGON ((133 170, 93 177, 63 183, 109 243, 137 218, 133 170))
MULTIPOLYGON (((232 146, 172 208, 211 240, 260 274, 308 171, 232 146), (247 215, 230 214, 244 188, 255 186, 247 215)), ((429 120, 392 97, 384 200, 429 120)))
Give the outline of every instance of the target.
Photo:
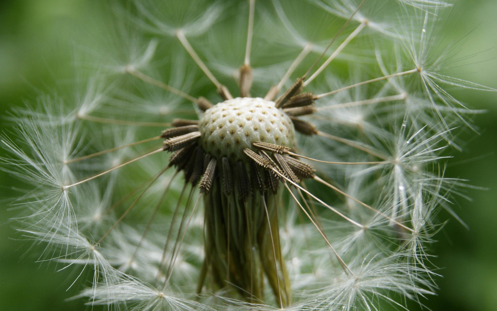
POLYGON ((243 159, 244 148, 263 141, 292 147, 295 130, 290 118, 261 98, 235 98, 216 104, 199 120, 200 145, 212 156, 243 159))

